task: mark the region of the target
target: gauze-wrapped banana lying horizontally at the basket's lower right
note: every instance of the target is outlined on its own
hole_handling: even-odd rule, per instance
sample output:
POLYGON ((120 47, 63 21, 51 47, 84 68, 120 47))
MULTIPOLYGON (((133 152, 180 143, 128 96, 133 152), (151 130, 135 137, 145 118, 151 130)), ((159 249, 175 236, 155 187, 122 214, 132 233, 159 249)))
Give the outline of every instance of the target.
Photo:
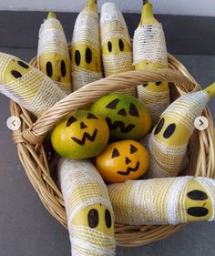
POLYGON ((128 180, 109 185, 108 192, 118 223, 176 225, 215 219, 215 179, 128 180))

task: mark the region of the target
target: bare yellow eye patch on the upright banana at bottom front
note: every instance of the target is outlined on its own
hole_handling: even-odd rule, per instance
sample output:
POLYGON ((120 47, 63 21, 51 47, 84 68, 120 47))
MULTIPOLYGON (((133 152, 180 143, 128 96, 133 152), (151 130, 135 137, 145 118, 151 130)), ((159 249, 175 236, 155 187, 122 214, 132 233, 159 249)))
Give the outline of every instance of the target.
POLYGON ((114 235, 113 216, 103 204, 93 204, 77 213, 72 224, 101 231, 107 236, 114 235))

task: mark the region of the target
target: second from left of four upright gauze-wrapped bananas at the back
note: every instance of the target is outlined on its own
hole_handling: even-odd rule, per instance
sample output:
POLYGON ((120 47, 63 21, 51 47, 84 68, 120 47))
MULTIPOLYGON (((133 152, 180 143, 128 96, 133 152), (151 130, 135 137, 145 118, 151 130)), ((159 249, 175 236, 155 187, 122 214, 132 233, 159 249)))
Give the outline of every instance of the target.
POLYGON ((84 10, 77 16, 71 56, 74 91, 103 77, 97 0, 87 0, 84 10))

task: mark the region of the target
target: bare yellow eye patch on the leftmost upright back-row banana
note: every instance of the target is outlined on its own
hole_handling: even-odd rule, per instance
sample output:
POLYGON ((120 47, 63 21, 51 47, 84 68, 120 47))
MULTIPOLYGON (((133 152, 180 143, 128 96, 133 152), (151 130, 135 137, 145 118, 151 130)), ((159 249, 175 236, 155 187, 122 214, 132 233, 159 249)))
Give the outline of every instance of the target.
POLYGON ((57 53, 45 53, 39 58, 39 69, 48 77, 63 84, 71 82, 70 63, 66 57, 57 53))

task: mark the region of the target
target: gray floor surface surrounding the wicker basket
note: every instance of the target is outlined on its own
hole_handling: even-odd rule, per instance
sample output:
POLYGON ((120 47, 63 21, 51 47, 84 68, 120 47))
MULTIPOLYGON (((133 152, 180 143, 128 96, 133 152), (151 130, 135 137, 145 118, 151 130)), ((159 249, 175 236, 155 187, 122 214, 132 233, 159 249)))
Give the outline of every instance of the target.
MULTIPOLYGON (((0 48, 26 61, 35 49, 0 48)), ((177 56, 202 87, 215 81, 215 56, 177 56)), ((0 256, 69 256, 65 230, 44 208, 26 177, 6 128, 9 100, 0 95, 0 256)), ((215 120, 215 100, 210 102, 215 120)), ((192 223, 164 241, 119 248, 117 256, 214 256, 215 222, 192 223)))

